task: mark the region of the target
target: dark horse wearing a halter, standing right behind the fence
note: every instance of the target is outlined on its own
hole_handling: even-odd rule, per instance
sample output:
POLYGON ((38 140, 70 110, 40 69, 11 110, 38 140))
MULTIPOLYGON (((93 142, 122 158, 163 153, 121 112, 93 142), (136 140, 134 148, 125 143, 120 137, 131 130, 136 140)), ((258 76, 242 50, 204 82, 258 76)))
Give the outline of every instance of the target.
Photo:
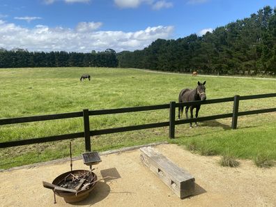
MULTIPOLYGON (((201 82, 197 82, 197 88, 196 89, 183 89, 181 93, 179 93, 178 102, 187 102, 187 101, 194 101, 194 100, 206 100, 206 93, 205 93, 205 85, 206 82, 201 84, 201 82)), ((199 109, 200 105, 193 105, 193 106, 187 106, 185 108, 185 115, 187 117, 187 112, 190 108, 191 112, 191 118, 194 116, 192 115, 192 110, 196 108, 196 118, 199 116, 199 109)), ((184 107, 178 107, 178 118, 180 119, 183 114, 184 107)), ((197 122, 195 122, 195 125, 197 125, 197 122)), ((192 127, 192 123, 190 123, 190 128, 192 127)))

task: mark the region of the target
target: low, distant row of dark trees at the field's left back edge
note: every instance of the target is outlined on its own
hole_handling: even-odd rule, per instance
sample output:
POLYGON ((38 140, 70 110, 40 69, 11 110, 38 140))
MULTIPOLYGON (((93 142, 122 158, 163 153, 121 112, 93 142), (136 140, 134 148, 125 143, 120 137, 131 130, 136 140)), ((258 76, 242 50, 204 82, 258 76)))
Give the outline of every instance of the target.
POLYGON ((118 59, 113 49, 105 52, 28 52, 24 49, 0 49, 0 68, 33 67, 109 67, 116 68, 118 59))

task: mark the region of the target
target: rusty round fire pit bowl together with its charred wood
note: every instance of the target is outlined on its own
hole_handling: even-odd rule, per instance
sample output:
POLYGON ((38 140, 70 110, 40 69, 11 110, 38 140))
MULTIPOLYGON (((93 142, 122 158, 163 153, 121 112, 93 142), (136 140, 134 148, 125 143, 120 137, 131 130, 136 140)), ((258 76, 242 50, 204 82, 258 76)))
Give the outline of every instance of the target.
POLYGON ((97 176, 93 171, 78 169, 59 175, 52 182, 52 186, 45 186, 45 183, 44 187, 51 188, 54 194, 63 197, 64 201, 74 203, 89 196, 89 192, 97 183, 97 176))

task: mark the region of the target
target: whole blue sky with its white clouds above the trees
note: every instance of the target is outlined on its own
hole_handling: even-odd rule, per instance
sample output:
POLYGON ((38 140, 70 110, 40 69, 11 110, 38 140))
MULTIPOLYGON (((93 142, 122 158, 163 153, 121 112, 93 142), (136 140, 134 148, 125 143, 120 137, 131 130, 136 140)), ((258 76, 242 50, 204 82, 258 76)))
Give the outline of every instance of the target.
POLYGON ((201 36, 250 17, 272 0, 0 0, 0 47, 116 52, 157 38, 201 36))

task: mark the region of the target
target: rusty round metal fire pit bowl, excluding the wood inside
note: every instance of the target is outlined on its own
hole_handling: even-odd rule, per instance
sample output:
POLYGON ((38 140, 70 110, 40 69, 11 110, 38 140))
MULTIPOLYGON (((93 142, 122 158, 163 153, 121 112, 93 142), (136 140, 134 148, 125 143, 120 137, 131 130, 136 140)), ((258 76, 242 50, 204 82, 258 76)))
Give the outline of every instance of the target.
MULTIPOLYGON (((73 175, 79 175, 79 174, 85 174, 88 173, 88 170, 84 170, 84 169, 77 169, 77 170, 73 170, 73 171, 68 171, 64 174, 59 175, 58 177, 56 177, 54 179, 54 181, 52 182, 52 184, 57 185, 58 183, 60 183, 61 181, 63 181, 64 178, 66 178, 66 176, 68 176, 68 174, 73 174, 73 175)), ((93 178, 93 181, 97 181, 97 176, 93 173, 93 171, 91 171, 91 176, 90 178, 93 178)), ((66 201, 67 203, 75 203, 78 201, 82 201, 84 199, 86 199, 86 197, 89 196, 89 192, 91 192, 91 190, 93 190, 93 188, 95 187, 95 183, 91 183, 91 185, 89 185, 89 187, 86 190, 82 190, 80 192, 74 193, 74 192, 64 192, 64 191, 60 191, 60 190, 55 190, 54 193, 57 194, 59 197, 63 197, 64 201, 66 201)))

